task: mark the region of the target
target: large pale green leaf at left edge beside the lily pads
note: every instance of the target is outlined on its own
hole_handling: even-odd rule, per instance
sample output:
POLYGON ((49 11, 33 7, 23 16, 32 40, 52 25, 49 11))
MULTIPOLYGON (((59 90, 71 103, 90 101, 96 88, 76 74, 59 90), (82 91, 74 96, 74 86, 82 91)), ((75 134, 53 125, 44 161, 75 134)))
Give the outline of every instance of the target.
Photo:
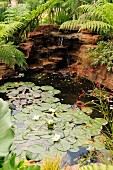
POLYGON ((8 155, 13 142, 14 134, 11 127, 11 110, 8 103, 0 98, 0 158, 8 155))

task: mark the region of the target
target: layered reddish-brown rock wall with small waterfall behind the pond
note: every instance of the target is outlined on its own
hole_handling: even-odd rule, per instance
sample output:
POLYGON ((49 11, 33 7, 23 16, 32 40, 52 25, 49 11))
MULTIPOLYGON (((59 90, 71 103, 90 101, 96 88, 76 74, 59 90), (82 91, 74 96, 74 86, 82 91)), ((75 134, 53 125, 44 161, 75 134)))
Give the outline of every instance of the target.
MULTIPOLYGON (((92 59, 87 58, 88 50, 96 48, 100 38, 91 31, 62 33, 59 25, 41 25, 28 34, 28 40, 21 43, 19 49, 26 56, 29 72, 76 73, 113 89, 113 74, 107 73, 105 66, 92 67, 92 59)), ((6 75, 5 67, 0 65, 0 78, 6 75)))

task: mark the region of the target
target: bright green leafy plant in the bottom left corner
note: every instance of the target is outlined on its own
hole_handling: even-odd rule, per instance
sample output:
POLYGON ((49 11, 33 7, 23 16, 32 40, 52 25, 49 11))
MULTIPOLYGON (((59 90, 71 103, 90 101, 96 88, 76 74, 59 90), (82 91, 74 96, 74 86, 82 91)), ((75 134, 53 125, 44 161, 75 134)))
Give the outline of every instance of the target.
POLYGON ((25 166, 24 160, 16 163, 16 154, 6 158, 5 162, 2 164, 0 170, 40 170, 38 165, 30 165, 29 163, 25 166))

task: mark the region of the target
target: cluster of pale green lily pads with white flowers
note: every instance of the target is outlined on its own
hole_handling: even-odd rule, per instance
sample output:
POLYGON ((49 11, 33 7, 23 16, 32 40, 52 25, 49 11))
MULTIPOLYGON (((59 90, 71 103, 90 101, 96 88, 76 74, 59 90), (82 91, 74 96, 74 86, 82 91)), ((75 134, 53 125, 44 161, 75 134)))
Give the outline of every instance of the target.
POLYGON ((18 157, 40 161, 45 156, 66 155, 79 147, 102 149, 102 118, 90 118, 85 110, 61 104, 52 86, 36 86, 31 82, 6 83, 0 87, 12 109, 14 143, 11 150, 18 157), (94 137, 92 142, 91 137, 94 137))

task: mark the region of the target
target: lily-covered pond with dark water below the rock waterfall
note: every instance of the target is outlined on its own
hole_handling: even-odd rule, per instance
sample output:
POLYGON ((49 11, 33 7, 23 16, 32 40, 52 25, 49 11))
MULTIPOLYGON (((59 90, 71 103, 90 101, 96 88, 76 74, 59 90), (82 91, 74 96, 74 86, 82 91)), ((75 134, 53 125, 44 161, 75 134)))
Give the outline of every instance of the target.
POLYGON ((17 157, 41 161, 45 155, 63 157, 63 164, 75 164, 74 158, 89 148, 104 149, 100 143, 103 118, 92 119, 77 100, 88 101, 84 91, 93 85, 84 79, 73 81, 69 75, 34 74, 12 77, 2 82, 0 96, 12 108, 14 143, 11 151, 17 157), (34 84, 35 83, 35 84, 34 84), (94 137, 94 141, 91 137, 94 137))

